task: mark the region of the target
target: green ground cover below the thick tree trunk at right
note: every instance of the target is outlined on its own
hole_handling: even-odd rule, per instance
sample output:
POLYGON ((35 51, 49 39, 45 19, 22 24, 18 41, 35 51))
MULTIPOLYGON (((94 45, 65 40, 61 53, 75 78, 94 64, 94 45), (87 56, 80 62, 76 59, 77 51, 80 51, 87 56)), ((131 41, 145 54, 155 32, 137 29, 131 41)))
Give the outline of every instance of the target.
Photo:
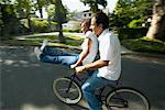
POLYGON ((136 52, 165 54, 165 42, 146 40, 144 37, 134 40, 123 40, 121 44, 129 50, 136 52))

